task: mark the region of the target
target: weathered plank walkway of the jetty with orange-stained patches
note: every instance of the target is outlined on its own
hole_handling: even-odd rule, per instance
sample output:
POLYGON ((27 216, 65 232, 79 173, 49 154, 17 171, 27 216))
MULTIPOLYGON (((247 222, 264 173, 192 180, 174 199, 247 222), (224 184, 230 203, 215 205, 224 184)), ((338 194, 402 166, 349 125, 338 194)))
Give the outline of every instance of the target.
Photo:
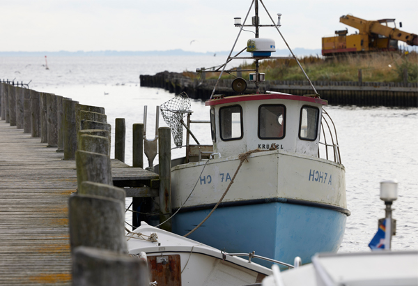
MULTIPOLYGON (((68 198, 74 160, 0 121, 0 285, 71 285, 68 198)), ((157 174, 112 160, 114 180, 157 174)))

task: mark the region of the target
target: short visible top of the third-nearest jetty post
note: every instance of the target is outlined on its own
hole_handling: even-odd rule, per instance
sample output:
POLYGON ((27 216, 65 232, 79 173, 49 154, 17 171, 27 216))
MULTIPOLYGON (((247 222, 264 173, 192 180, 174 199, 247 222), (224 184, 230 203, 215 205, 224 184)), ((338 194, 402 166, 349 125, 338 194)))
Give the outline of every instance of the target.
POLYGON ((100 197, 109 197, 125 204, 126 192, 123 188, 109 186, 104 183, 93 183, 84 181, 81 188, 77 190, 78 195, 98 195, 100 197))

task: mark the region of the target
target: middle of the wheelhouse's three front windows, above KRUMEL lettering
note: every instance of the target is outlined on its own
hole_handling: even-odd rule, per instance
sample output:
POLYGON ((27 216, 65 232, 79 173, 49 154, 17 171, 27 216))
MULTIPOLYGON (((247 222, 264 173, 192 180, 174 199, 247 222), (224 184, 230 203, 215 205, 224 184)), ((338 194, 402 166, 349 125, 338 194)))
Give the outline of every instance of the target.
POLYGON ((260 139, 284 138, 286 107, 260 105, 258 107, 258 137, 260 139))

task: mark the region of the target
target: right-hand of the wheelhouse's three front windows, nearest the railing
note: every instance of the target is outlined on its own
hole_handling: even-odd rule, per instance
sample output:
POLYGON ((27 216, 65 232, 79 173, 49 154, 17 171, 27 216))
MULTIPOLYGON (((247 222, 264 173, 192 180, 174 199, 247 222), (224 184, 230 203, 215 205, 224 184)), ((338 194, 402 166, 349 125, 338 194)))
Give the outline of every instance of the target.
POLYGON ((318 135, 319 110, 317 107, 304 105, 300 110, 299 138, 301 140, 316 140, 318 135))

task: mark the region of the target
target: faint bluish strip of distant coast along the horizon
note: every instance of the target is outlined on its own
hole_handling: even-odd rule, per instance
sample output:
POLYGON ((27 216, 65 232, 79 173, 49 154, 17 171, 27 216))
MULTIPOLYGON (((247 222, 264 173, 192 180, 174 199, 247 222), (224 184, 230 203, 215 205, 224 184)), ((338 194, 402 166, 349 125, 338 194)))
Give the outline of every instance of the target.
MULTIPOLYGON (((320 49, 309 50, 301 47, 293 49, 293 53, 299 56, 308 56, 316 54, 320 55, 320 49)), ((229 51, 221 52, 190 52, 184 50, 167 50, 167 51, 59 51, 59 52, 0 52, 0 57, 132 57, 132 56, 227 56, 229 51)), ((287 56, 290 52, 286 49, 277 50, 274 55, 287 56)))

